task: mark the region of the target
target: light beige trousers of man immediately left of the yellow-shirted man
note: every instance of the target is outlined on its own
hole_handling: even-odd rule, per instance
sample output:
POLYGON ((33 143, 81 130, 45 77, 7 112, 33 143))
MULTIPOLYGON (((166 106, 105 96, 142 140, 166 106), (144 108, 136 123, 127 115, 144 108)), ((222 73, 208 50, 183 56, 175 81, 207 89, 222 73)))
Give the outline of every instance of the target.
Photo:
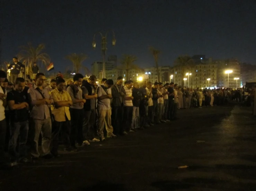
POLYGON ((47 118, 44 120, 33 119, 33 140, 31 146, 31 155, 33 157, 39 157, 38 152, 38 140, 40 133, 42 134, 42 151, 43 155, 50 153, 50 143, 52 135, 52 120, 47 118))

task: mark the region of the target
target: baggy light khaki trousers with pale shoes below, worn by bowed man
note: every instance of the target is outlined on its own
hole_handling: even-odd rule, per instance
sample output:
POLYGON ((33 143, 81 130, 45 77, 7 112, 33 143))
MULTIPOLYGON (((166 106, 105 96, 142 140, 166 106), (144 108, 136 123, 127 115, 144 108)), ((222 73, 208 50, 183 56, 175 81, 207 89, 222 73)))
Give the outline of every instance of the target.
POLYGON ((111 109, 109 110, 97 110, 97 134, 100 138, 104 137, 104 125, 108 134, 113 133, 113 127, 111 125, 111 109))

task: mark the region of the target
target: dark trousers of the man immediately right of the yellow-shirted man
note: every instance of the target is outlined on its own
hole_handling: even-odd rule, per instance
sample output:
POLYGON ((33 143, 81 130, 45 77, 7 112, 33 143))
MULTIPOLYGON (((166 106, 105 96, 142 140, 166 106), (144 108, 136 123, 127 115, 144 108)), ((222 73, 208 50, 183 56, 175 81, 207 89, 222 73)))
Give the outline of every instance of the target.
POLYGON ((78 144, 83 143, 83 109, 70 108, 71 117, 71 132, 70 132, 70 144, 72 147, 75 146, 76 140, 78 144))

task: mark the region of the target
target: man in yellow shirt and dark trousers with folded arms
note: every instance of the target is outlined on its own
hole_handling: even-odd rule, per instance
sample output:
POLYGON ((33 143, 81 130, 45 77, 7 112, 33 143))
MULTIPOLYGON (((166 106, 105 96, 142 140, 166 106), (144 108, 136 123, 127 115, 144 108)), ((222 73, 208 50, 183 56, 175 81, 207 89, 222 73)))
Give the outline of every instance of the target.
POLYGON ((54 108, 52 114, 54 115, 54 131, 52 133, 52 154, 54 157, 59 157, 59 134, 61 132, 62 141, 65 145, 65 151, 77 151, 70 145, 70 112, 69 107, 72 105, 72 100, 67 91, 64 90, 65 80, 58 78, 56 80, 57 88, 51 91, 54 100, 54 108))

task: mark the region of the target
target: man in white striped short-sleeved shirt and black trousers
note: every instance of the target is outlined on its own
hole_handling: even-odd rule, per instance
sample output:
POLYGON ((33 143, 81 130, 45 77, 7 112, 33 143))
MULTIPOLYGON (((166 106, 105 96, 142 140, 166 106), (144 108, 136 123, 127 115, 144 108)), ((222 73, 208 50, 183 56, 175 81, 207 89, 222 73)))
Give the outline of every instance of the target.
MULTIPOLYGON (((124 98, 124 129, 129 132, 134 132, 132 117, 133 117, 133 96, 132 96, 133 81, 129 80, 124 85, 126 97, 124 98)), ((138 127, 136 127, 138 128, 138 127)))

